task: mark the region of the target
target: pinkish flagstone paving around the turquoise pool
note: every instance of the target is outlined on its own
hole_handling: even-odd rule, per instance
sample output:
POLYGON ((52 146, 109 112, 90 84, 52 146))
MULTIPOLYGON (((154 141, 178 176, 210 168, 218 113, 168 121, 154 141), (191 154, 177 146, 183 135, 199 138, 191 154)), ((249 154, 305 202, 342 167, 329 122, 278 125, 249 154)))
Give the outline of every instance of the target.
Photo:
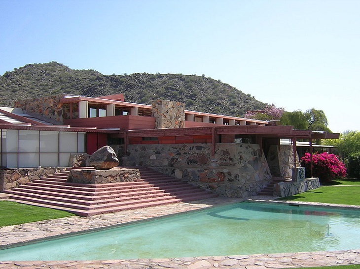
MULTIPOLYGON (((137 210, 120 211, 89 217, 66 217, 13 226, 0 227, 0 249, 11 244, 22 244, 39 239, 56 238, 65 234, 76 234, 83 231, 96 231, 122 223, 160 217, 164 215, 225 205, 244 200, 272 201, 273 197, 250 197, 236 199, 216 197, 191 203, 177 203, 137 210)), ((291 204, 309 204, 291 201, 291 204)), ((341 205, 310 203, 311 205, 344 207, 341 205)), ((346 206, 359 209, 360 206, 346 206)), ((232 255, 211 257, 187 257, 169 259, 132 259, 132 260, 96 260, 96 261, 0 261, 1 268, 126 268, 126 269, 160 269, 160 268, 300 268, 318 266, 336 266, 360 264, 360 249, 341 251, 317 251, 298 253, 232 255)))

